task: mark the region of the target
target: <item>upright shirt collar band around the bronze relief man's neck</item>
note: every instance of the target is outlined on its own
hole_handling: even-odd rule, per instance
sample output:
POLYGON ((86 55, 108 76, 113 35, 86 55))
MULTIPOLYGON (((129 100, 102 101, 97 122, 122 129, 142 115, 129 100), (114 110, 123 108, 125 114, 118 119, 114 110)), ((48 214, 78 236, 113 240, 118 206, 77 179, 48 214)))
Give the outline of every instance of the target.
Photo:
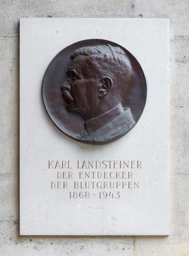
POLYGON ((88 135, 92 134, 102 126, 106 125, 113 119, 115 119, 117 116, 119 116, 121 113, 124 112, 124 108, 120 105, 118 107, 113 108, 110 111, 107 111, 106 113, 97 116, 93 119, 88 120, 85 122, 85 128, 87 130, 88 135))

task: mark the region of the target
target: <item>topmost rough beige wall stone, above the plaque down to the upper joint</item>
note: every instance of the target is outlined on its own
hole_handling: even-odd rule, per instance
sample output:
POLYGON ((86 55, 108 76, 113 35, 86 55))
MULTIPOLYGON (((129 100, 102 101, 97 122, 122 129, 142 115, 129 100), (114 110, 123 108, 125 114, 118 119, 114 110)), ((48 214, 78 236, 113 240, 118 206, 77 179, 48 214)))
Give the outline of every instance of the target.
POLYGON ((56 1, 39 0, 0 2, 1 26, 0 36, 14 36, 19 34, 18 23, 20 17, 170 17, 170 36, 187 36, 189 5, 187 0, 78 0, 56 1))

